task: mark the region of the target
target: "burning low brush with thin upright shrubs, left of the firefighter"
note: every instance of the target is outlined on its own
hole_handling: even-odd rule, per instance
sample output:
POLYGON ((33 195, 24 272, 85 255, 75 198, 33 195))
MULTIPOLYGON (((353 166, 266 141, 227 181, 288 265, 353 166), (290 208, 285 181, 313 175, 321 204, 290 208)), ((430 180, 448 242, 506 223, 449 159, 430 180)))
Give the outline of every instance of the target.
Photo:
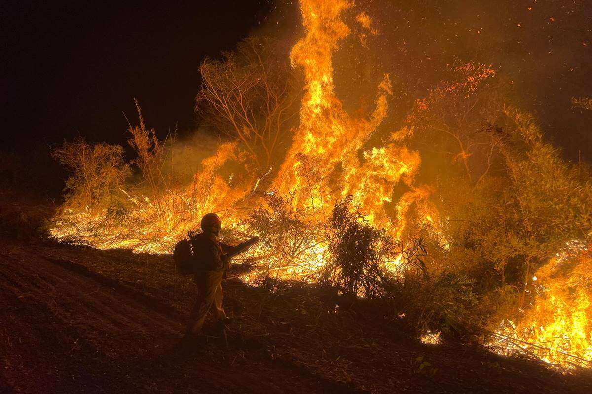
POLYGON ((217 152, 202 159, 200 169, 187 179, 173 165, 179 148, 174 139, 160 142, 156 132, 146 128, 139 106, 137 110, 140 124, 128 129, 137 152, 130 163, 123 162, 121 146, 89 145, 79 139, 54 151, 54 157, 74 170, 67 181, 73 192, 50 230, 57 239, 166 253, 187 230, 199 226, 204 213, 231 207, 242 197, 221 174, 237 159, 236 144, 218 144, 217 152), (123 182, 134 167, 136 176, 123 182))

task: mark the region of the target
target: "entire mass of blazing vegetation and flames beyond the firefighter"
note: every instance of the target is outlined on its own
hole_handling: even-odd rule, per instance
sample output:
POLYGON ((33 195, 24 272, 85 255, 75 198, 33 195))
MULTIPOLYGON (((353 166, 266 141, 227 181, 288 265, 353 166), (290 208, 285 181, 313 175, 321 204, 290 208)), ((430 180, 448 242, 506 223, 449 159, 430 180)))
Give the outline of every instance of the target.
POLYGON ((170 253, 213 211, 230 242, 261 239, 246 282, 323 282, 378 300, 429 343, 477 338, 590 367, 589 168, 545 141, 494 65, 448 64, 407 101, 400 77, 369 78, 374 105, 352 110, 336 53, 361 56, 379 31, 349 1, 300 9, 291 48, 251 37, 201 64, 195 109, 219 138, 159 141, 137 106, 133 161, 82 138, 54 149, 72 175, 52 236, 170 253))

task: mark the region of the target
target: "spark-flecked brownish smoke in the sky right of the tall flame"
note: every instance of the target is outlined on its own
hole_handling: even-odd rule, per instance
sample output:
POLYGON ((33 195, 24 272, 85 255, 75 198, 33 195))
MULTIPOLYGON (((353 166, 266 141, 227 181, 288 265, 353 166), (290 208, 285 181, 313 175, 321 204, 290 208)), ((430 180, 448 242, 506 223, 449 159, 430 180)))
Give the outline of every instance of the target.
POLYGON ((367 9, 380 32, 369 41, 377 58, 368 61, 391 74, 400 116, 447 79, 448 64, 491 64, 511 87, 507 100, 534 113, 568 157, 577 158, 578 149, 592 157, 592 137, 585 132, 592 113, 574 112, 570 103, 572 96, 592 92, 592 3, 411 0, 356 6, 367 9))

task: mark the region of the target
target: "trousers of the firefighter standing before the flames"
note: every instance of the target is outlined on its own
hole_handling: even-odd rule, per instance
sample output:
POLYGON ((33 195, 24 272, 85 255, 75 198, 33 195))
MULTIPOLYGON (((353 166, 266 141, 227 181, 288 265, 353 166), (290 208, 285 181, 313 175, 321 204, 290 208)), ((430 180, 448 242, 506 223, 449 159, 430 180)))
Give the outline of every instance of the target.
POLYGON ((189 316, 187 333, 200 334, 208 311, 212 309, 217 321, 226 319, 222 307, 222 277, 224 271, 204 271, 195 275, 197 299, 189 316))

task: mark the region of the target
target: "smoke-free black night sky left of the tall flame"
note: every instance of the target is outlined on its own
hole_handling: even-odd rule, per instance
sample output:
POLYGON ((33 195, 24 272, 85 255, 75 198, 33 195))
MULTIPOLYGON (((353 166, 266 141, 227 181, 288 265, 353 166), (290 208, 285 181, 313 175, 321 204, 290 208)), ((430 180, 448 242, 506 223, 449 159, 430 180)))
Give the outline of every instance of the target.
POLYGON ((83 135, 122 143, 137 97, 162 133, 192 124, 198 66, 246 37, 261 0, 4 2, 2 146, 83 135), (8 54, 8 56, 7 56, 8 54), (3 116, 4 118, 4 116, 3 116))

